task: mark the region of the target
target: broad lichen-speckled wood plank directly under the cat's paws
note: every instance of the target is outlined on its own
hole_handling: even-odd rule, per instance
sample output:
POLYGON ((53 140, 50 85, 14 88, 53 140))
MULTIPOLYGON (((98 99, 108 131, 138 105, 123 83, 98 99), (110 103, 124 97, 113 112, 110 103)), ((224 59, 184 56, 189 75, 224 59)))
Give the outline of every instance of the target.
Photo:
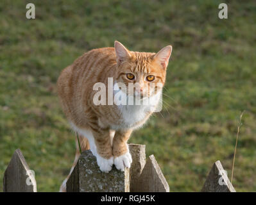
POLYGON ((115 167, 108 173, 99 170, 96 157, 84 151, 67 181, 67 192, 130 192, 129 170, 115 167))

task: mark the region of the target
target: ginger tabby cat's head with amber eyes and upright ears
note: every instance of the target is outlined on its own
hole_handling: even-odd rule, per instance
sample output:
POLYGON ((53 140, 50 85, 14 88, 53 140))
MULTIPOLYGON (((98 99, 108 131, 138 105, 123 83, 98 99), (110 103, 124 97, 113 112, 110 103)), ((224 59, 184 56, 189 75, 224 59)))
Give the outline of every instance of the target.
POLYGON ((167 45, 157 54, 133 52, 115 41, 118 68, 115 82, 125 85, 128 95, 151 97, 161 91, 164 86, 171 51, 171 45, 167 45), (135 87, 129 89, 129 83, 133 83, 135 87))

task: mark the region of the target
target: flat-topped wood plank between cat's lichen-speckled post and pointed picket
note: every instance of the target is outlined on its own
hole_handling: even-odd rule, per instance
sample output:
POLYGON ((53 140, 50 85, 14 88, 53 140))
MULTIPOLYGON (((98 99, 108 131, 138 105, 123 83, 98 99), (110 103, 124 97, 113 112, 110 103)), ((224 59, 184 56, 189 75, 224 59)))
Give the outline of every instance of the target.
POLYGON ((130 168, 130 192, 139 192, 139 176, 146 164, 146 145, 129 144, 132 155, 132 165, 130 168))

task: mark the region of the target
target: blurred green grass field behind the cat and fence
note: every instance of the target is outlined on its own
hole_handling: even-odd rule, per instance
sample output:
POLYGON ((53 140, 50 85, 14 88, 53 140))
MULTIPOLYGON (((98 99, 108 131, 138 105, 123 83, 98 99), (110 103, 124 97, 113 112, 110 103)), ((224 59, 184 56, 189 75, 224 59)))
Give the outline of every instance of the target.
MULTIPOLYGON (((0 1, 0 181, 15 149, 39 192, 57 192, 75 138, 58 103, 61 70, 119 40, 132 51, 173 45, 165 106, 130 142, 155 154, 171 192, 198 192, 212 164, 231 177, 237 117, 246 110, 233 184, 256 191, 256 2, 0 1), (34 3, 36 19, 26 19, 34 3), (219 3, 228 19, 218 18, 219 3)), ((0 190, 3 184, 0 183, 0 190)))

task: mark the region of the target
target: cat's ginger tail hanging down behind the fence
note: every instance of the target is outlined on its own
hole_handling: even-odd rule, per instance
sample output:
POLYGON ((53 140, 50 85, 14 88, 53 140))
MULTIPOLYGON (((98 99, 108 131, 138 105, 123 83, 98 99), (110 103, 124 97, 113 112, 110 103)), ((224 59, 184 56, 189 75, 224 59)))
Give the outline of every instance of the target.
MULTIPOLYGON (((80 147, 81 147, 82 152, 87 150, 87 149, 90 149, 89 141, 87 140, 87 138, 79 135, 79 141, 80 141, 80 147)), ((74 162, 73 162, 73 165, 72 165, 71 170, 69 172, 69 175, 63 181, 62 186, 60 186, 60 192, 66 192, 67 179, 69 179, 69 177, 71 176, 71 173, 74 170, 74 167, 76 167, 76 163, 78 162, 79 156, 80 156, 80 149, 79 149, 79 145, 78 145, 78 139, 76 138, 76 156, 74 156, 74 162)))

